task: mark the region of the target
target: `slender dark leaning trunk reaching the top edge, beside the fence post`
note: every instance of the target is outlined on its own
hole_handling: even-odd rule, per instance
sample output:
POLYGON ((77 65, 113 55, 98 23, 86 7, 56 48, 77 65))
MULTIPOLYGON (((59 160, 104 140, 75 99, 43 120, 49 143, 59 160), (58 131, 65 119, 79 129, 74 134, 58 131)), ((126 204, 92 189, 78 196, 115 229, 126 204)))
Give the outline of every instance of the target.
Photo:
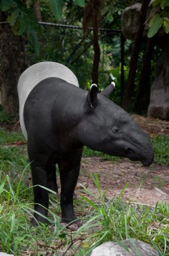
POLYGON ((129 109, 131 106, 131 99, 133 96, 134 84, 135 84, 135 73, 137 69, 137 59, 139 56, 139 49, 142 42, 142 34, 144 32, 144 26, 146 22, 146 13, 150 0, 144 0, 142 3, 142 8, 140 10, 140 24, 138 26, 137 32, 135 34, 135 39, 133 42, 133 51, 131 53, 131 59, 129 62, 129 77, 127 80, 127 87, 125 90, 125 96, 123 98, 123 108, 129 109))

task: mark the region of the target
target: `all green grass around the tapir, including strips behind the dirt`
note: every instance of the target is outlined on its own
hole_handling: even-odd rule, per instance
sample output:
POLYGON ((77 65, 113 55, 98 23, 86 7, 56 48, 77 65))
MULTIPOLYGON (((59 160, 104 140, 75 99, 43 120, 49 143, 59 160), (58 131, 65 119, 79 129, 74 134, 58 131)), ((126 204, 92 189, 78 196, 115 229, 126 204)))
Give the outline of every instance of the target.
MULTIPOLYGON (((17 141, 24 141, 21 133, 0 130, 0 251, 14 255, 61 255, 68 250, 68 255, 82 256, 105 241, 121 243, 125 238, 138 238, 156 248, 158 255, 169 256, 168 204, 131 205, 123 203, 121 195, 107 200, 95 175, 98 194, 93 195, 81 185, 80 199, 75 202, 83 223, 77 232, 71 233, 60 225, 60 198, 53 194, 50 220, 54 230, 44 225, 30 228, 29 219, 34 214, 30 166, 25 144, 16 146, 17 141)), ((168 141, 168 136, 152 139, 155 162, 169 164, 168 141)), ((119 160, 85 147, 83 156, 119 160)))

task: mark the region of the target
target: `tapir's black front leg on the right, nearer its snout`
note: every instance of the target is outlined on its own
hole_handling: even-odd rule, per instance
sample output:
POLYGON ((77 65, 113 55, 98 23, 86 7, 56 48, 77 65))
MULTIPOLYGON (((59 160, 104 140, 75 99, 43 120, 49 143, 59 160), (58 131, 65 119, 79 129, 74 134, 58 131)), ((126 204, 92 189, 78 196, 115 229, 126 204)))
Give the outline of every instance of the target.
POLYGON ((66 160, 58 162, 61 183, 60 205, 62 223, 66 224, 71 230, 77 230, 81 226, 80 221, 77 220, 74 214, 73 207, 73 194, 78 180, 81 156, 82 149, 77 150, 74 154, 70 154, 66 160))

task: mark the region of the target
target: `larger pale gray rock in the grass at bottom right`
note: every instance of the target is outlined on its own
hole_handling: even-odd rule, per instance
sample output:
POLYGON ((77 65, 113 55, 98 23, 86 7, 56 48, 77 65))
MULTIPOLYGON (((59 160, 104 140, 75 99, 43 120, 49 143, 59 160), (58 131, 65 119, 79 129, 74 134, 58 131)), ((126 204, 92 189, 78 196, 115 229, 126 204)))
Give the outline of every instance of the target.
POLYGON ((158 256, 158 253, 148 244, 136 240, 121 241, 124 248, 116 242, 107 242, 95 248, 91 256, 158 256))

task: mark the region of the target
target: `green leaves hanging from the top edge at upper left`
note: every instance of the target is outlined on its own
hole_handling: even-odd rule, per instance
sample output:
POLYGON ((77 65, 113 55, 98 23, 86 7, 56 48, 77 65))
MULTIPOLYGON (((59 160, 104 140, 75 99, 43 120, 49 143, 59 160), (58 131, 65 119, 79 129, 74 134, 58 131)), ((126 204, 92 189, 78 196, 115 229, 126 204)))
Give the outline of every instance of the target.
MULTIPOLYGON (((56 20, 62 18, 65 2, 64 0, 48 0, 56 20)), ((80 7, 85 6, 84 0, 74 0, 73 3, 80 7)), ((36 53, 39 53, 38 35, 42 33, 42 26, 35 18, 33 7, 21 0, 1 0, 0 10, 6 13, 7 22, 11 25, 14 34, 27 38, 34 46, 36 53)))

